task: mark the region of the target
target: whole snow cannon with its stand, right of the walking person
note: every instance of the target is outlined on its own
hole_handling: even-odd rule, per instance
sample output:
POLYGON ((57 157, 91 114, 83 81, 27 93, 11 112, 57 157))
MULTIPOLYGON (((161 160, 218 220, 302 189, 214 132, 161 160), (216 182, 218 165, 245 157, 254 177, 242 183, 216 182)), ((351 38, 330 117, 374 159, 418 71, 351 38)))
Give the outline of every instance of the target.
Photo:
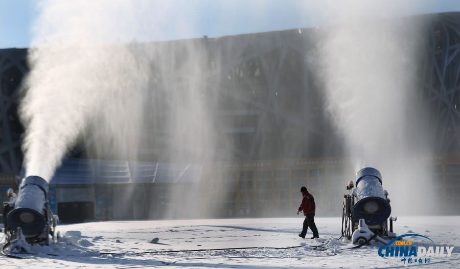
POLYGON ((355 184, 350 181, 347 190, 349 193, 344 195, 343 200, 342 235, 351 239, 362 220, 374 234, 392 237, 392 222, 396 218, 390 218, 392 229, 388 231, 388 217, 392 213, 392 208, 388 192, 383 189, 380 172, 372 167, 359 170, 355 184))

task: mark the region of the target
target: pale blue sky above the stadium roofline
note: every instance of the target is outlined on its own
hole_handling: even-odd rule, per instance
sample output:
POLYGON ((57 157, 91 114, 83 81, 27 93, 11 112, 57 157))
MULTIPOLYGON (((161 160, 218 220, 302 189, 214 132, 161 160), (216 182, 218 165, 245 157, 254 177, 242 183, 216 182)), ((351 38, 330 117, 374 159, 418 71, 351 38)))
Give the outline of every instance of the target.
MULTIPOLYGON (((61 1, 87 3, 88 9, 92 3, 61 1)), ((0 48, 31 45, 36 36, 33 26, 40 14, 38 4, 42 2, 0 0, 0 48)), ((356 12, 376 17, 460 11, 458 0, 131 0, 130 3, 141 2, 153 7, 158 14, 146 14, 145 10, 143 13, 143 6, 139 5, 136 12, 142 15, 137 18, 150 16, 151 22, 152 17, 160 16, 162 20, 157 20, 159 26, 153 31, 155 34, 149 35, 145 27, 144 33, 137 33, 139 41, 310 28, 333 23, 338 13, 352 18, 356 12), (342 12, 344 10, 347 11, 342 12), (179 30, 182 25, 178 21, 187 23, 187 31, 179 30)))

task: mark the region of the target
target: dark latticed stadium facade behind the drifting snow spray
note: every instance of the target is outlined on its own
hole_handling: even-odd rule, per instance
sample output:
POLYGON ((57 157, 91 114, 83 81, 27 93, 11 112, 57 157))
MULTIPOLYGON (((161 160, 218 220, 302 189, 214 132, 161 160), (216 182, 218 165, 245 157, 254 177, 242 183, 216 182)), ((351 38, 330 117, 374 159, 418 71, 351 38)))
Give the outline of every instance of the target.
MULTIPOLYGON (((435 177, 443 182, 442 191, 449 199, 444 202, 455 205, 459 202, 455 193, 460 191, 460 13, 401 21, 424 25, 420 62, 412 82, 423 101, 422 120, 432 132, 428 137, 433 154, 426 158, 435 160, 435 177)), ((147 99, 152 109, 146 112, 139 134, 139 160, 203 163, 204 189, 220 198, 222 188, 234 189, 226 196, 228 200, 216 198, 217 203, 209 198, 207 204, 217 207, 213 210, 223 212, 222 216, 254 215, 262 207, 259 204, 266 203, 273 212, 288 210, 298 184, 331 188, 333 182, 343 180, 343 171, 348 171, 347 153, 343 137, 325 112, 324 85, 314 64, 314 52, 325 38, 323 29, 333 27, 130 44, 139 57, 154 50, 158 60, 152 61, 154 90, 147 99), (165 62, 166 66, 156 65, 165 62), (209 136, 212 150, 172 135, 175 130, 165 127, 171 120, 167 116, 171 113, 165 111, 181 109, 175 114, 179 117, 193 108, 186 105, 187 100, 167 102, 172 100, 170 89, 187 91, 194 83, 199 96, 206 96, 200 105, 213 114, 211 127, 206 127, 214 130, 209 136)), ((5 182, 14 181, 22 169, 24 129, 17 109, 29 70, 27 56, 26 48, 0 50, 0 174, 5 182)), ((94 154, 91 143, 103 142, 94 136, 88 139, 90 143, 76 146, 69 157, 116 159, 109 148, 102 156, 94 154)), ((340 201, 334 202, 335 194, 326 194, 321 206, 334 210, 335 202, 340 201)))

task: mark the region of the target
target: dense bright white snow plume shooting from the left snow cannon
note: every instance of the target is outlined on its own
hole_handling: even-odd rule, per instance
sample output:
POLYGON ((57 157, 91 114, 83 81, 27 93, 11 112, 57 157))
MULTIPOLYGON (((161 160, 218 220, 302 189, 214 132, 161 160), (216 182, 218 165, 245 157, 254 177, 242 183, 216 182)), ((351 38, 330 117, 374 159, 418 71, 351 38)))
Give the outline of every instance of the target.
POLYGON ((101 133, 123 140, 123 149, 131 150, 127 155, 136 151, 136 140, 127 133, 140 124, 143 107, 136 104, 148 77, 129 46, 112 42, 113 36, 127 38, 123 30, 133 16, 121 1, 42 2, 20 104, 28 175, 50 180, 95 120, 101 133))

